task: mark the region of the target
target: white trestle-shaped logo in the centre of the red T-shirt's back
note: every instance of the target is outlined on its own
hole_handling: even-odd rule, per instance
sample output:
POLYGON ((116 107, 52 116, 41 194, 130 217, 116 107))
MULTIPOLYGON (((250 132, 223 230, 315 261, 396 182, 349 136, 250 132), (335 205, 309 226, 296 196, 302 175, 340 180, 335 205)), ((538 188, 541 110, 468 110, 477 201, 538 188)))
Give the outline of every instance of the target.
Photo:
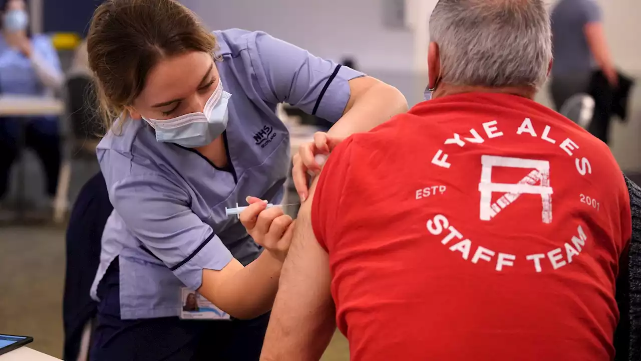
POLYGON ((497 157, 495 155, 483 155, 481 157, 483 170, 481 171, 481 220, 491 220, 503 209, 510 206, 520 195, 538 194, 541 195, 543 212, 542 222, 552 223, 552 187, 550 186, 550 163, 538 159, 521 159, 513 157, 497 157), (515 184, 492 183, 492 168, 531 168, 533 169, 526 177, 515 184), (540 182, 537 185, 537 182, 540 182), (495 203, 492 203, 492 193, 505 193, 495 203))

